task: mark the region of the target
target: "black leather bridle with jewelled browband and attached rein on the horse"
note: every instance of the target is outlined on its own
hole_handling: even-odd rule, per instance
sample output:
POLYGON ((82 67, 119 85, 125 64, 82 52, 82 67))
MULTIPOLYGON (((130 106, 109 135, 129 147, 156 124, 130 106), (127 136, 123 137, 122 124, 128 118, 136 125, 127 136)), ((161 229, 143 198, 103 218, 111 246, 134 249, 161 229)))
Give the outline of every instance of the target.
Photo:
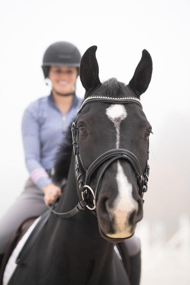
MULTIPOLYGON (((93 90, 94 91, 94 90, 93 90)), ((75 155, 75 176, 76 179, 79 183, 79 190, 81 191, 82 198, 83 200, 80 201, 74 209, 67 213, 58 213, 53 210, 53 208, 57 205, 57 202, 53 205, 53 207, 48 206, 50 211, 52 211, 54 214, 56 214, 58 217, 61 218, 68 218, 79 211, 83 210, 85 207, 87 207, 91 212, 97 216, 97 211, 96 211, 96 202, 98 200, 98 194, 99 194, 99 187, 103 178, 103 175, 107 168, 116 160, 118 159, 125 159, 127 160, 135 174, 136 174, 136 181, 138 184, 139 188, 139 195, 141 198, 143 198, 144 192, 148 190, 147 182, 148 182, 148 176, 149 176, 149 170, 150 167, 148 165, 148 158, 149 158, 149 139, 148 139, 148 148, 147 148, 147 160, 146 160, 146 168, 145 168, 145 173, 143 175, 142 168, 140 165, 140 162, 136 158, 136 156, 130 152, 129 150, 126 149, 121 149, 121 148, 115 148, 108 150, 107 152, 101 154, 90 166, 88 169, 84 167, 84 164, 82 162, 81 156, 80 156, 80 151, 79 151, 79 129, 76 126, 77 125, 77 120, 78 120, 78 115, 80 114, 81 110, 87 103, 93 103, 93 102, 106 102, 106 103, 119 103, 119 104, 126 104, 126 103, 135 103, 139 105, 142 108, 142 104, 140 102, 140 99, 136 97, 122 97, 122 98, 112 98, 112 97, 105 97, 105 96, 89 96, 87 99, 85 99, 78 111, 77 114, 77 119, 75 122, 73 122, 72 127, 71 127, 71 133, 72 133, 72 140, 73 140, 73 152, 75 155), (93 189, 90 187, 90 180, 92 174, 102 165, 105 164, 103 167, 97 184, 96 184, 96 189, 95 192, 93 189), (81 166, 86 173, 85 180, 83 179, 83 175, 81 172, 81 166)), ((143 199, 142 199, 143 200, 143 199)), ((144 200, 143 200, 144 202, 144 200)))

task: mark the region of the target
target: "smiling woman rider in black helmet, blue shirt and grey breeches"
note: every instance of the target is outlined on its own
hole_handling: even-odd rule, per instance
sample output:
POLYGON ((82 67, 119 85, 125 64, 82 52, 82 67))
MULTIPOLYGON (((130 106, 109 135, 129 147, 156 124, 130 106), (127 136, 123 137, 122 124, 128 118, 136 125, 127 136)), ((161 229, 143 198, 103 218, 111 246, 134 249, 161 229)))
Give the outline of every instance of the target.
POLYGON ((46 205, 61 195, 61 188, 51 178, 56 152, 82 102, 75 95, 80 58, 78 49, 68 42, 56 42, 44 54, 42 69, 51 81, 52 91, 24 111, 22 134, 30 177, 22 194, 0 220, 0 266, 5 247, 19 224, 44 213, 46 205))

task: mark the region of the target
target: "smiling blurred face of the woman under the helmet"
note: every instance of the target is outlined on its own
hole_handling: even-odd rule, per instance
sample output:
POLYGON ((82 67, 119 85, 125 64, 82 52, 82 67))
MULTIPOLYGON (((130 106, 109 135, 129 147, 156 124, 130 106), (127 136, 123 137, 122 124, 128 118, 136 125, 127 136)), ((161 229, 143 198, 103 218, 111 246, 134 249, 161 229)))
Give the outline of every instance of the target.
POLYGON ((70 66, 51 66, 48 78, 52 82, 53 89, 59 93, 73 92, 77 79, 77 68, 70 66))

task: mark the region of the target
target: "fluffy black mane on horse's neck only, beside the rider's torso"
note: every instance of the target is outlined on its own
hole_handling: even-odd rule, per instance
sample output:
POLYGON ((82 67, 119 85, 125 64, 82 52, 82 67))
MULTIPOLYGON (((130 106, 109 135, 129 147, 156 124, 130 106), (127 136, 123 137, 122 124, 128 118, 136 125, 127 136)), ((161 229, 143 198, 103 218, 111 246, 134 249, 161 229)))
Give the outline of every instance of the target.
MULTIPOLYGON (((75 121, 75 120, 74 120, 75 121)), ((56 154, 54 176, 53 181, 60 183, 64 178, 67 178, 69 173, 69 167, 71 163, 71 155, 73 150, 71 126, 69 125, 64 142, 60 145, 60 148, 56 154)))

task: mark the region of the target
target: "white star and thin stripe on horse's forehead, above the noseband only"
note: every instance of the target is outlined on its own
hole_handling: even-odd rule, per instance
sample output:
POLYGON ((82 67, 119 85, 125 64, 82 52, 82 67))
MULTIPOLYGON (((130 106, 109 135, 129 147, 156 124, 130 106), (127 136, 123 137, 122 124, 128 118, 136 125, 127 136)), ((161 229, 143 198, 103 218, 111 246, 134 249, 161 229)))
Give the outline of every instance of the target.
POLYGON ((120 143, 120 124, 121 121, 124 120, 127 116, 127 112, 125 110, 124 105, 114 104, 111 105, 106 110, 106 114, 109 119, 114 123, 114 127, 116 129, 116 148, 119 148, 120 143))

